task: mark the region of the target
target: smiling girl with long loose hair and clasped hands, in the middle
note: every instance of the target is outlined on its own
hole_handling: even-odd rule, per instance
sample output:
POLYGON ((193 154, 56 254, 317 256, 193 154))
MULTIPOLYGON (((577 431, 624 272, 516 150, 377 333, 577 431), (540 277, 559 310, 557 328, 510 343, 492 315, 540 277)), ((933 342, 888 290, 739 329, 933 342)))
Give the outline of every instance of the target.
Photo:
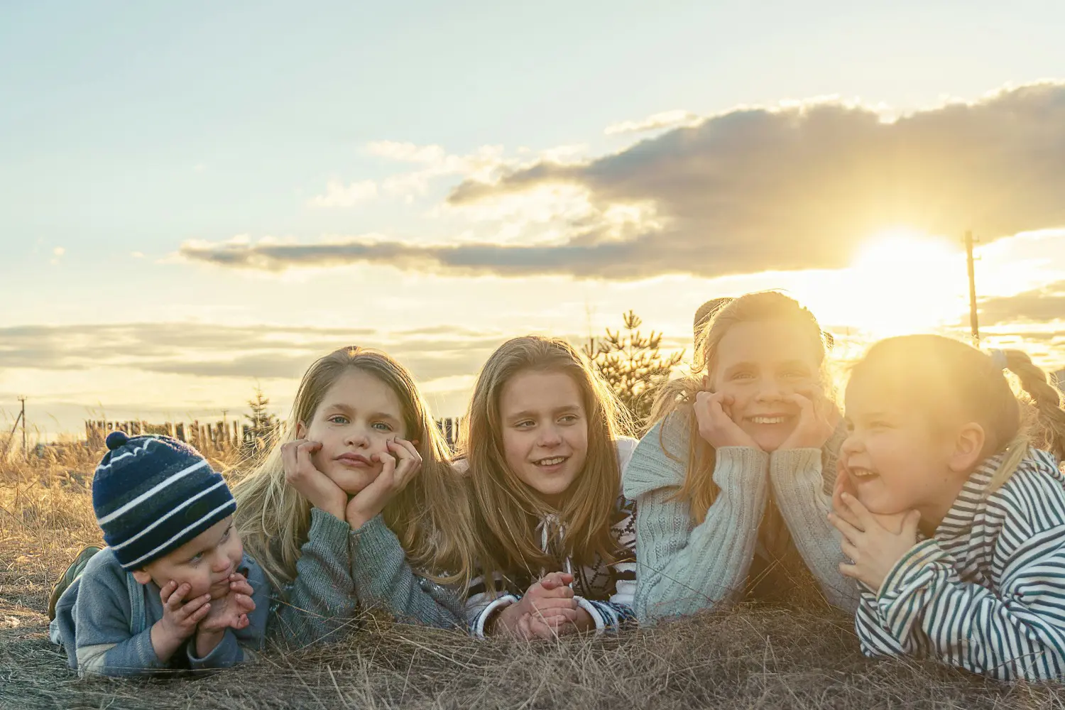
POLYGON ((590 363, 564 341, 504 343, 463 427, 473 495, 478 635, 552 638, 633 618, 633 510, 620 495, 635 440, 590 363))

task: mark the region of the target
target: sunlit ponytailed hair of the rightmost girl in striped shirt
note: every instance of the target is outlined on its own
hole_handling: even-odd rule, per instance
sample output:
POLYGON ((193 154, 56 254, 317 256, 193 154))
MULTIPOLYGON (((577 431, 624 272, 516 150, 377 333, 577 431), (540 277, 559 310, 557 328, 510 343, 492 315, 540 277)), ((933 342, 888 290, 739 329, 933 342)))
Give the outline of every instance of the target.
POLYGON ((875 378, 879 387, 901 393, 907 407, 932 415, 950 413, 984 429, 981 459, 1006 452, 992 479, 996 489, 1035 445, 1065 457, 1065 411, 1062 395, 1047 374, 1022 350, 1000 350, 995 357, 943 335, 900 335, 880 341, 851 370, 856 378, 875 378), (1017 376, 1029 400, 1018 399, 1002 371, 1017 376))

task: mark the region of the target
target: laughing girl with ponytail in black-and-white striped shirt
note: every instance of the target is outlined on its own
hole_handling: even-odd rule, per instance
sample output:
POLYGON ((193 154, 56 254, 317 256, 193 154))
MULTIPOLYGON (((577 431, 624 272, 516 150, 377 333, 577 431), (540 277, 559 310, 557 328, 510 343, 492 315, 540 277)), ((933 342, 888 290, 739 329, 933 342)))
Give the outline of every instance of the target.
POLYGON ((905 335, 870 348, 846 403, 832 519, 862 650, 1065 679, 1065 411, 1046 374, 1020 350, 905 335))

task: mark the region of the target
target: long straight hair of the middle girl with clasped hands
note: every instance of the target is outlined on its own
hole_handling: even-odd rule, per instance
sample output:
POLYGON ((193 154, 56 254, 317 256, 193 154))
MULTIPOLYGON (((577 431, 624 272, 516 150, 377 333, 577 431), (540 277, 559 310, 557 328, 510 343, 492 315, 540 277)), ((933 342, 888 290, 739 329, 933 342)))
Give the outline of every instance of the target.
POLYGON ((557 560, 540 549, 536 526, 555 513, 566 526, 564 550, 577 564, 596 555, 615 560, 611 513, 621 488, 615 441, 626 431, 627 417, 613 393, 569 343, 528 335, 507 341, 477 376, 460 448, 468 459, 474 497, 477 562, 485 582, 494 589, 495 573, 541 569, 557 560), (510 378, 523 371, 562 373, 580 390, 588 420, 588 458, 561 510, 554 510, 507 465, 503 448, 499 395, 510 378))

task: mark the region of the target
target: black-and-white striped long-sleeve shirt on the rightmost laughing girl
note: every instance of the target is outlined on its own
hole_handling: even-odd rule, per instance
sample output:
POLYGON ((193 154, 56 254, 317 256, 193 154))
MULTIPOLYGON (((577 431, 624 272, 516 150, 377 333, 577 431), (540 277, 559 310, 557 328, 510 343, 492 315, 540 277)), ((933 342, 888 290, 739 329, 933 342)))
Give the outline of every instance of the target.
POLYGON ((970 476, 933 538, 862 587, 867 656, 935 658, 1001 680, 1065 678, 1065 477, 1032 449, 998 490, 970 476))

